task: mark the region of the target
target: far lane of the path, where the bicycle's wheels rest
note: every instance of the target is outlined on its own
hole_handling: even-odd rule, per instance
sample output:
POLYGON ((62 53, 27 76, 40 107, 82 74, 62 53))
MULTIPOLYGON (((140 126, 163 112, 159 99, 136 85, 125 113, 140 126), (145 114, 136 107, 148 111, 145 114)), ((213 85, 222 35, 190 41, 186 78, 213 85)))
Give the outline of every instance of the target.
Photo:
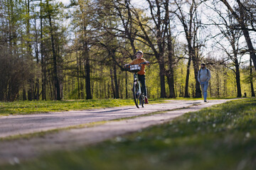
MULTIPOLYGON (((206 104, 211 105, 215 102, 218 101, 210 101, 210 103, 206 104)), ((139 109, 135 106, 126 106, 87 111, 3 116, 0 117, 0 137, 65 128, 72 125, 81 125, 102 120, 128 118, 135 115, 143 115, 156 111, 168 111, 201 103, 202 101, 170 101, 170 103, 146 105, 145 108, 139 109)))

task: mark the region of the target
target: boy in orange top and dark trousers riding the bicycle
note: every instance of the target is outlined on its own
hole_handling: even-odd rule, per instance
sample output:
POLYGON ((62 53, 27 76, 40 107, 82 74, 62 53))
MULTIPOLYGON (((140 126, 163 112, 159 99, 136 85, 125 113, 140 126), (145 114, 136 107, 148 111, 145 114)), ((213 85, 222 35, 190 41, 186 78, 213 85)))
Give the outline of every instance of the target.
MULTIPOLYGON (((133 60, 132 62, 130 62, 129 64, 140 64, 142 62, 146 62, 146 65, 149 65, 149 62, 146 61, 144 58, 142 58, 143 57, 143 52, 142 51, 137 51, 135 53, 135 56, 136 56, 136 59, 133 60)), ((124 66, 126 66, 126 65, 128 65, 128 64, 125 64, 124 66)), ((139 81, 142 84, 142 91, 143 91, 144 96, 145 96, 145 104, 148 104, 149 101, 148 101, 148 98, 147 98, 146 82, 145 82, 145 73, 146 72, 144 71, 144 69, 145 69, 145 64, 142 64, 142 69, 139 72, 137 72, 137 74, 138 74, 139 81)))

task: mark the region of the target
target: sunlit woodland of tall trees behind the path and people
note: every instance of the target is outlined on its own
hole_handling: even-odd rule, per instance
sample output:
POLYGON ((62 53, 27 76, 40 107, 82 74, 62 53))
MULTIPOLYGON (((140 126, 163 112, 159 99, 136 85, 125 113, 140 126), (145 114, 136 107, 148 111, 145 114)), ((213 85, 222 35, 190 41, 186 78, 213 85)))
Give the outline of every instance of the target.
POLYGON ((254 0, 0 0, 0 101, 131 98, 137 50, 149 98, 255 96, 254 0))

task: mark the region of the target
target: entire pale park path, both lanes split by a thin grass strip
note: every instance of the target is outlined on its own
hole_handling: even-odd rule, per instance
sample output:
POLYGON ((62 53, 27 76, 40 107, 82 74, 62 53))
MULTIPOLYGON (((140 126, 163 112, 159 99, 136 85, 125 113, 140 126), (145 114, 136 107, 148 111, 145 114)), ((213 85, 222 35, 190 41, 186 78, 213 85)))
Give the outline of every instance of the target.
POLYGON ((70 111, 62 113, 45 113, 36 115, 10 115, 0 118, 0 137, 10 135, 27 134, 65 128, 71 125, 81 125, 102 120, 114 120, 117 118, 129 118, 136 115, 166 111, 164 113, 135 117, 126 120, 109 121, 103 125, 88 128, 62 130, 50 133, 43 137, 31 137, 13 141, 0 142, 0 164, 16 162, 20 159, 31 159, 43 152, 58 149, 74 149, 84 145, 94 144, 124 135, 128 132, 136 132, 151 125, 159 125, 170 121, 177 116, 201 108, 224 103, 228 100, 215 100, 204 103, 202 101, 170 101, 146 105, 145 108, 127 106, 122 108, 106 108, 90 111, 70 111), (182 108, 177 110, 177 108, 182 108))

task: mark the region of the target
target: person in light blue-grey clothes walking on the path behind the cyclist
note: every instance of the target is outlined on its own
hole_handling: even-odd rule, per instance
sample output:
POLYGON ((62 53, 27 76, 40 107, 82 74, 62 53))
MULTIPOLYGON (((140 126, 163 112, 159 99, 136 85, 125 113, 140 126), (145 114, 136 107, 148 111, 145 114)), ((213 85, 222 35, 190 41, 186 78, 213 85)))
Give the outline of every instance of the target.
POLYGON ((199 69, 198 71, 198 81, 203 91, 204 102, 207 102, 206 98, 207 98, 207 89, 208 89, 209 80, 210 80, 210 70, 206 68, 205 63, 201 63, 201 69, 199 69))

